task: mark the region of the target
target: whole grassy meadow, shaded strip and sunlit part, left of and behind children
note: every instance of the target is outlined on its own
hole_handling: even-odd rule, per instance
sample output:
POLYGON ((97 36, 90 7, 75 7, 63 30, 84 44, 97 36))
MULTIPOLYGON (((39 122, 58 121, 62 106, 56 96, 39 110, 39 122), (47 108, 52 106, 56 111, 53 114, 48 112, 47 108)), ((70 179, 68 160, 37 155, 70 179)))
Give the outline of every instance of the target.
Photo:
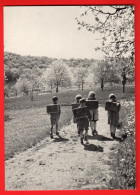
MULTIPOLYGON (((26 150, 48 136, 50 130, 49 115, 46 114, 46 105, 51 103, 51 97, 57 95, 61 105, 70 105, 75 101, 76 94, 87 97, 89 90, 68 91, 58 94, 37 95, 31 102, 30 97, 5 99, 5 114, 9 119, 5 121, 5 159, 11 158, 15 153, 26 150)), ((99 103, 104 106, 110 93, 115 93, 118 100, 134 99, 134 86, 126 86, 122 93, 120 87, 108 87, 104 91, 95 89, 99 103)), ((67 125, 72 117, 69 106, 62 106, 60 127, 67 125)))

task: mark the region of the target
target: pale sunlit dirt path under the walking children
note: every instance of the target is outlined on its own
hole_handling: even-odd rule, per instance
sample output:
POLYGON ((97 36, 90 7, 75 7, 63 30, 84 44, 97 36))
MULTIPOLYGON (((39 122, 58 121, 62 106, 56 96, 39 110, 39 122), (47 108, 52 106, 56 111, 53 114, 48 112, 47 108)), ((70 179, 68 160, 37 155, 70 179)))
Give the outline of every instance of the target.
POLYGON ((107 113, 99 109, 97 130, 89 144, 81 145, 76 125, 61 129, 62 138, 47 137, 37 146, 17 154, 5 163, 6 190, 106 189, 111 170, 109 154, 117 141, 110 138, 107 113))

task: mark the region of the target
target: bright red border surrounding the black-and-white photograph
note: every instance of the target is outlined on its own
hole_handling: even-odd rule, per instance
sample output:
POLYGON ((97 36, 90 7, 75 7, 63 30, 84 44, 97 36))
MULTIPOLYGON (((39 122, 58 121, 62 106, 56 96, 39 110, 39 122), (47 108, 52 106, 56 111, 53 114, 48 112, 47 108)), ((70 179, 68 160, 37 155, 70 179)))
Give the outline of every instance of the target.
MULTIPOLYGON (((11 35, 12 36, 12 35, 11 35)), ((140 0, 0 0, 0 194, 140 194, 140 0), (46 190, 46 191, 5 191, 4 158, 4 6, 43 6, 43 5, 134 5, 135 6, 135 121, 136 121, 136 189, 135 190, 46 190)), ((94 174, 94 173, 93 173, 94 174)))

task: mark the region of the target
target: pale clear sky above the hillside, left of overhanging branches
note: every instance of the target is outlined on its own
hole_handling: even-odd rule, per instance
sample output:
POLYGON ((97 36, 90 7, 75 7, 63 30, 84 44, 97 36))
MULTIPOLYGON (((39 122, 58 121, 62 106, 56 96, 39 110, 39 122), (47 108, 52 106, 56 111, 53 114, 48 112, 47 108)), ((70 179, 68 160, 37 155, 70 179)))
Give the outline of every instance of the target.
POLYGON ((102 59, 98 34, 78 30, 79 6, 4 7, 4 50, 20 55, 102 59))

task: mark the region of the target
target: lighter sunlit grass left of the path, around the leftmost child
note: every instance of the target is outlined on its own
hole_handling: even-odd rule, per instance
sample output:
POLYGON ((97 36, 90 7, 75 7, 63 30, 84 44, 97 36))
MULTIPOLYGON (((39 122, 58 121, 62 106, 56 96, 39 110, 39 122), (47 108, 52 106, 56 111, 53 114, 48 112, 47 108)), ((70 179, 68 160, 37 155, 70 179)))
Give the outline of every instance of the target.
MULTIPOLYGON (((6 113, 10 118, 5 122, 5 160, 34 146, 49 135, 50 116, 45 108, 12 109, 6 113)), ((63 107, 60 128, 67 125, 71 117, 69 107, 63 107)))

